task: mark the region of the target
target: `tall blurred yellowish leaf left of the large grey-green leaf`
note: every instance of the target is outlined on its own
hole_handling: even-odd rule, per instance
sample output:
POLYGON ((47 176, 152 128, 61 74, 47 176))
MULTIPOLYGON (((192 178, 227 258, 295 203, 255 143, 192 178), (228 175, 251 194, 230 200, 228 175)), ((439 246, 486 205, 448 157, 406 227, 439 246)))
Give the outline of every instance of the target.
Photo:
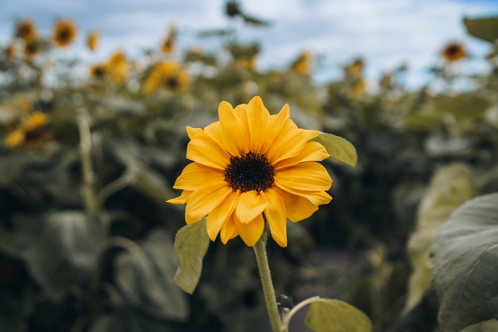
POLYGON ((474 197, 475 183, 472 169, 463 163, 442 167, 432 177, 418 208, 416 229, 407 243, 413 272, 408 282, 405 314, 420 302, 431 285, 429 252, 439 228, 457 207, 474 197))

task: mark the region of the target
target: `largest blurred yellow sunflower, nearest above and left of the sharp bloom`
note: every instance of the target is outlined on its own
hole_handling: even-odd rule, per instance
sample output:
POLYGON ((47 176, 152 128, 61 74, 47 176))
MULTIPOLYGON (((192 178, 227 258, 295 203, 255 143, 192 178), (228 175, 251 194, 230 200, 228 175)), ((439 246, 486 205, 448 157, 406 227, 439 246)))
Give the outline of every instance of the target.
POLYGON ((143 90, 147 93, 165 88, 169 91, 185 91, 189 78, 187 73, 173 61, 163 61, 152 68, 152 71, 143 83, 143 90))

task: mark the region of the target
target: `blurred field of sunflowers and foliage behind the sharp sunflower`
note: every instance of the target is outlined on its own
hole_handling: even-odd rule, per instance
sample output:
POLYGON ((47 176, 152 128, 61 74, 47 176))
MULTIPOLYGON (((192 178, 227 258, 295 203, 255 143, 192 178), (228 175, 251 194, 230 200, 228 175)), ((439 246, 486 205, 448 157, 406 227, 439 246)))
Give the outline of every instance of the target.
MULTIPOLYGON (((267 23, 237 2, 225 9, 248 26, 267 23)), ((498 38, 498 18, 463 23, 498 38)), ((253 252, 240 239, 210 244, 192 296, 174 284, 184 208, 165 203, 189 162, 185 126, 204 127, 221 101, 254 95, 273 113, 289 103, 300 127, 358 152, 356 167, 324 162, 333 201, 289 223, 287 248, 269 242, 276 292, 343 299, 374 331, 436 331, 436 233, 460 204, 498 190, 496 44, 489 74, 460 73, 460 45, 464 56, 442 54, 428 69, 437 91, 407 91, 398 64, 367 87, 361 59, 324 86, 311 81, 307 52, 285 70, 258 71, 259 46, 233 30, 200 32, 225 40, 216 54, 192 47, 173 57, 172 29, 162 49, 94 65, 61 57, 57 48, 71 46, 54 36, 13 30, 0 58, 1 331, 268 330, 253 252), (478 88, 457 91, 460 80, 478 88)), ((296 317, 291 331, 309 330, 296 317)))

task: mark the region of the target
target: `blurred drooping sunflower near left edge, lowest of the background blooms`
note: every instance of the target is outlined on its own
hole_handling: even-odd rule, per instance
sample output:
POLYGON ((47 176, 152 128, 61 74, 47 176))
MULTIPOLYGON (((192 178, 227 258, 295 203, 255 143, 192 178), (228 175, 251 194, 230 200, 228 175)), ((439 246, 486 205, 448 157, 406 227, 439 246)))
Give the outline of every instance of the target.
POLYGON ((42 112, 33 112, 24 119, 17 128, 5 137, 5 146, 13 149, 39 149, 52 139, 52 133, 47 128, 48 118, 42 112))

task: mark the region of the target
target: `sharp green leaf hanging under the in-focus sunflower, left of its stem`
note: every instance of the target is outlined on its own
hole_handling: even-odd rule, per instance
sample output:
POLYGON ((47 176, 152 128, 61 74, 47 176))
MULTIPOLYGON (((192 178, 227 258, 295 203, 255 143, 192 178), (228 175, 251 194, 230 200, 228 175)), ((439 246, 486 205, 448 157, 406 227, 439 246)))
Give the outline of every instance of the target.
POLYGON ((176 284, 185 292, 194 293, 202 272, 202 259, 209 247, 206 220, 183 226, 175 237, 175 254, 178 259, 176 284))

